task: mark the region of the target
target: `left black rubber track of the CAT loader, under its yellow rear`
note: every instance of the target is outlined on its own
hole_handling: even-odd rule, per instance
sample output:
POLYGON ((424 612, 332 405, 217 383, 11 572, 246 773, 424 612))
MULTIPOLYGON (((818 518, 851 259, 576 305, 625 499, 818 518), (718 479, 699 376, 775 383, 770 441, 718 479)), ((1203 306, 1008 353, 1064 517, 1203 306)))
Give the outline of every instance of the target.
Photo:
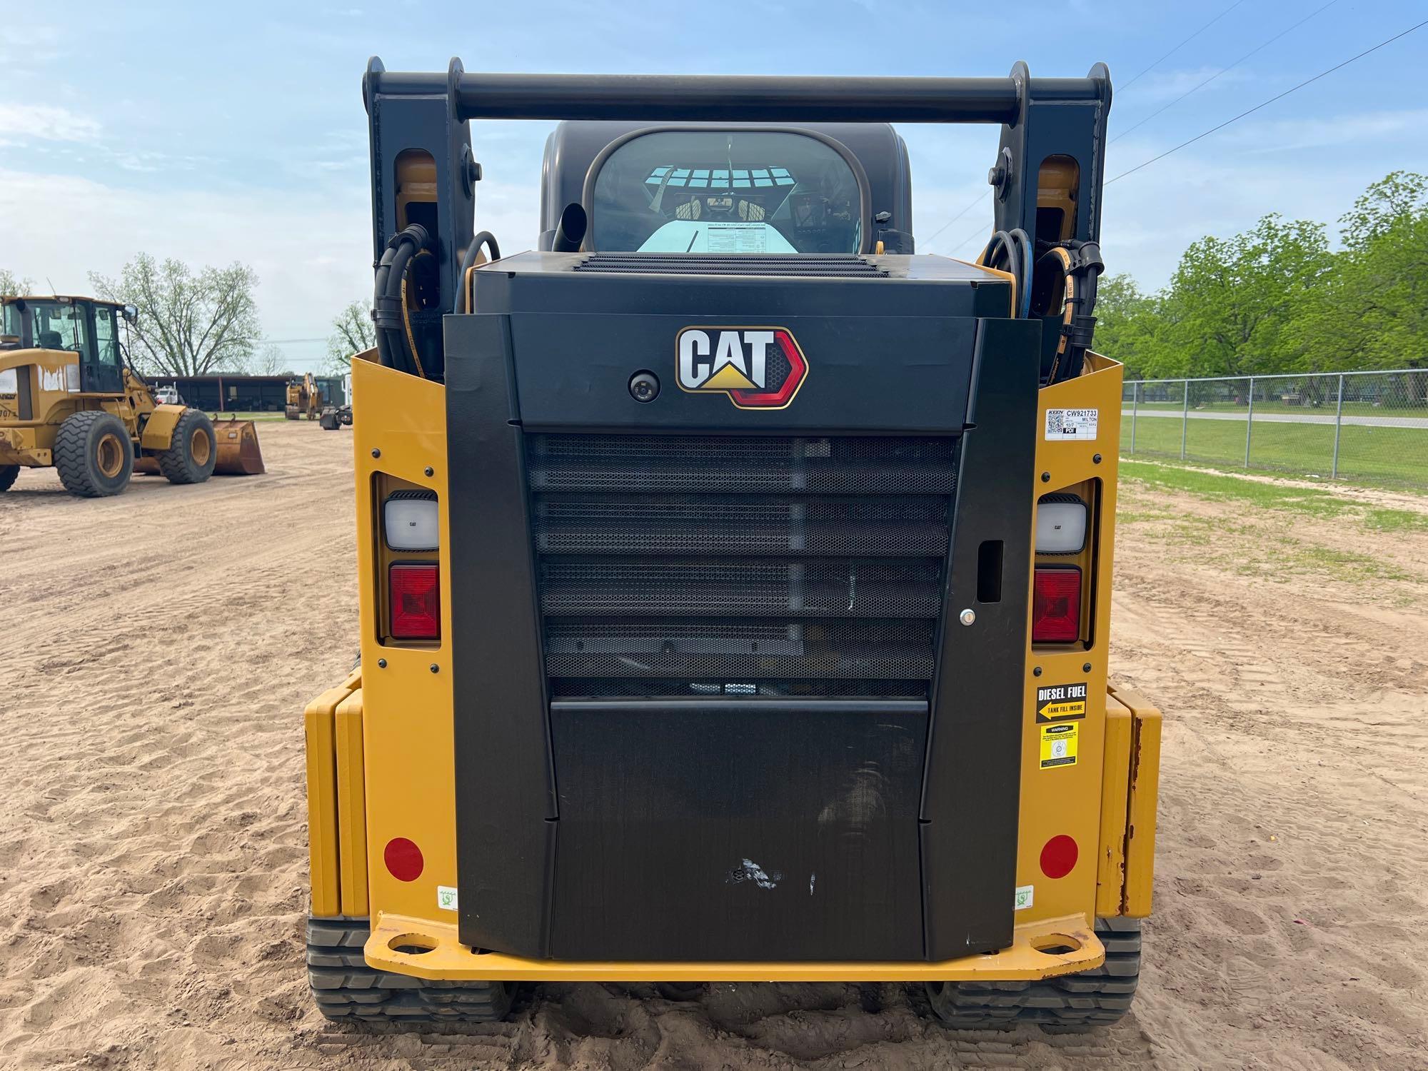
POLYGON ((318 1011, 337 1022, 498 1022, 513 982, 446 982, 367 965, 366 918, 307 920, 307 982, 318 1011))

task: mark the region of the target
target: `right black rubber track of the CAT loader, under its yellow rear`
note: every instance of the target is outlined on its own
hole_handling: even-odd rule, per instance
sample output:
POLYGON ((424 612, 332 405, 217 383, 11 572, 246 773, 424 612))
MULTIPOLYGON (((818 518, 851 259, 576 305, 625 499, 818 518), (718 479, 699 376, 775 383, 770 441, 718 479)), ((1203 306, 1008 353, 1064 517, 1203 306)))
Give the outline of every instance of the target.
POLYGON ((1141 920, 1098 918, 1105 962, 1044 981, 928 982, 927 1000, 944 1025, 1011 1030, 1034 1022, 1048 1034, 1108 1027, 1131 1007, 1141 977, 1141 920))

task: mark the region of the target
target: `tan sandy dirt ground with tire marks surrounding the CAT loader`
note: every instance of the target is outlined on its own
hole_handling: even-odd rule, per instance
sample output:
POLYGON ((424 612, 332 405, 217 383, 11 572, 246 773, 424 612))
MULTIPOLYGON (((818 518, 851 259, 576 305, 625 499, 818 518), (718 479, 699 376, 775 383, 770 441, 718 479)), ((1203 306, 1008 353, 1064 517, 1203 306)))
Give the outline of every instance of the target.
POLYGON ((268 474, 0 496, 0 1067, 1428 1065, 1428 530, 1128 484, 1114 670, 1167 713, 1135 1011, 948 1034, 907 987, 523 992, 378 1034, 308 1002, 301 708, 356 647, 348 434, 268 474))

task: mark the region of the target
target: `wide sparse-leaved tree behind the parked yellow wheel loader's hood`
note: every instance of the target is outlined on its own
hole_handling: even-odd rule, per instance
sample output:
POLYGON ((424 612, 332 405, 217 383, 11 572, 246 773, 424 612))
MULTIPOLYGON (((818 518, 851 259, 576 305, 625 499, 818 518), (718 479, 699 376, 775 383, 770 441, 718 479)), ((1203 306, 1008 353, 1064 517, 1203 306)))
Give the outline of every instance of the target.
POLYGON ((257 273, 234 261, 194 273, 178 260, 140 253, 119 278, 90 273, 96 296, 137 306, 131 357, 143 373, 243 371, 261 337, 257 273))

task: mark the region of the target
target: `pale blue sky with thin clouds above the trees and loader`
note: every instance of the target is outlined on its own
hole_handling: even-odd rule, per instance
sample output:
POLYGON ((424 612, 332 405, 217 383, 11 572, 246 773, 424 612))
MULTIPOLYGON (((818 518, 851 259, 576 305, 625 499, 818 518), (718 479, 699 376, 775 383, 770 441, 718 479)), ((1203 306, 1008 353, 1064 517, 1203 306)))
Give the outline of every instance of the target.
MULTIPOLYGON (((358 81, 388 70, 708 74, 1032 74, 1111 67, 1112 139, 1325 0, 527 0, 526 3, 47 3, 0 17, 0 267, 87 290, 139 250, 238 258, 271 338, 320 338, 370 291, 358 81), (1228 10, 1227 10, 1228 9, 1228 10), (1212 26, 1161 59, 1205 21, 1212 26), (1158 60, 1158 63, 1157 63, 1158 60), (1151 64, 1155 64, 1151 67, 1151 64), (1151 67, 1147 73, 1147 67, 1151 67), (1137 77, 1140 74, 1140 77, 1137 77), (1134 81, 1132 81, 1134 79, 1134 81)), ((1337 0, 1112 141, 1108 176, 1428 17, 1337 0)), ((1334 221, 1394 169, 1428 171, 1428 27, 1107 190, 1110 271, 1161 286, 1184 247, 1268 211, 1334 221)), ((473 124, 477 226, 534 244, 550 126, 473 124)), ((990 226, 994 127, 904 127, 918 251, 970 257, 990 226)), ((296 368, 321 343, 283 343, 296 368)))

